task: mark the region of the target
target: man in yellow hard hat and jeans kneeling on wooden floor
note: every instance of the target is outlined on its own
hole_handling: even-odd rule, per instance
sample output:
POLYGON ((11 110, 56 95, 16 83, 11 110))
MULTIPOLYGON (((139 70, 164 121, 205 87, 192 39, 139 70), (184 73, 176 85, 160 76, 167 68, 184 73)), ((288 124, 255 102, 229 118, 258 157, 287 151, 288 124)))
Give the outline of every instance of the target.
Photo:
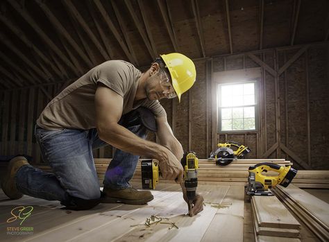
MULTIPOLYGON (((99 202, 145 204, 153 199, 151 192, 129 184, 139 155, 144 155, 158 159, 162 177, 179 182, 187 200, 180 164, 183 148, 158 100, 176 96, 180 100, 195 78, 194 63, 180 53, 160 55, 142 74, 122 60, 94 67, 53 98, 37 119, 35 137, 53 174, 15 157, 1 186, 4 193, 12 199, 26 194, 59 200, 76 210, 99 202), (156 130, 160 144, 145 140, 146 128, 156 130), (101 193, 92 149, 108 144, 117 150, 101 193)), ((202 211, 202 196, 197 195, 193 204, 190 216, 202 211)))

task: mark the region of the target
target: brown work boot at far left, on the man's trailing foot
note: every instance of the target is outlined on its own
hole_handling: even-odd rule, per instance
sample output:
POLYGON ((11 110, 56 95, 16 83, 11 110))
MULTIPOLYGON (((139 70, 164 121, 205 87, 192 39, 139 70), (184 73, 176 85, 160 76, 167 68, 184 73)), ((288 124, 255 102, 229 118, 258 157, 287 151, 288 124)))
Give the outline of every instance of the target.
POLYGON ((15 175, 21 166, 28 165, 28 161, 23 156, 17 156, 10 159, 7 172, 1 180, 1 188, 10 199, 22 198, 23 193, 19 192, 16 187, 15 175))

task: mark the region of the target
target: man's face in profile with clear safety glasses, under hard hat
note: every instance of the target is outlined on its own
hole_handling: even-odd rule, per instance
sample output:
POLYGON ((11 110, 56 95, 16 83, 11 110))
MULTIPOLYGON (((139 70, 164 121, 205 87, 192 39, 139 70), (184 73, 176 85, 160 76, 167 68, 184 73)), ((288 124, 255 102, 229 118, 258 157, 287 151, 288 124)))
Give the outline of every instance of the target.
POLYGON ((149 100, 174 98, 176 96, 174 87, 171 85, 168 74, 166 74, 165 70, 160 69, 160 67, 151 71, 151 76, 146 82, 145 91, 149 100))

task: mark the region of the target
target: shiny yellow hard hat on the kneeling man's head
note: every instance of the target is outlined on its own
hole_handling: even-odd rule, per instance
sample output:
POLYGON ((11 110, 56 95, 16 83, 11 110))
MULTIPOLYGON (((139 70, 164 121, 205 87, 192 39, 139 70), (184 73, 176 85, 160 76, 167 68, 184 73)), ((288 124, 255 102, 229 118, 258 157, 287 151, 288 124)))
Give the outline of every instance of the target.
POLYGON ((169 69, 171 81, 180 101, 180 96, 192 87, 196 78, 194 63, 180 53, 160 55, 169 69))

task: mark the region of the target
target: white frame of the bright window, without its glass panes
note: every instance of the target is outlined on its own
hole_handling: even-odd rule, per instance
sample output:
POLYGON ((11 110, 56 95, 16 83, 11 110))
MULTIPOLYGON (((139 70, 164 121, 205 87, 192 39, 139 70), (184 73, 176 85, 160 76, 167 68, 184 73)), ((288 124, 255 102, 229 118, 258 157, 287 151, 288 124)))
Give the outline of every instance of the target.
MULTIPOLYGON (((259 78, 252 78, 248 80, 239 80, 237 82, 225 82, 225 83, 217 83, 217 133, 218 134, 227 134, 227 133, 249 133, 249 132, 258 132, 259 131, 259 98, 258 98, 258 85, 259 78), (255 107, 255 129, 253 130, 221 130, 221 109, 226 107, 221 107, 221 86, 223 85, 239 85, 244 83, 255 83, 254 84, 254 95, 255 95, 255 104, 254 105, 242 105, 235 107, 255 107)), ((227 108, 233 108, 232 106, 227 108)))

